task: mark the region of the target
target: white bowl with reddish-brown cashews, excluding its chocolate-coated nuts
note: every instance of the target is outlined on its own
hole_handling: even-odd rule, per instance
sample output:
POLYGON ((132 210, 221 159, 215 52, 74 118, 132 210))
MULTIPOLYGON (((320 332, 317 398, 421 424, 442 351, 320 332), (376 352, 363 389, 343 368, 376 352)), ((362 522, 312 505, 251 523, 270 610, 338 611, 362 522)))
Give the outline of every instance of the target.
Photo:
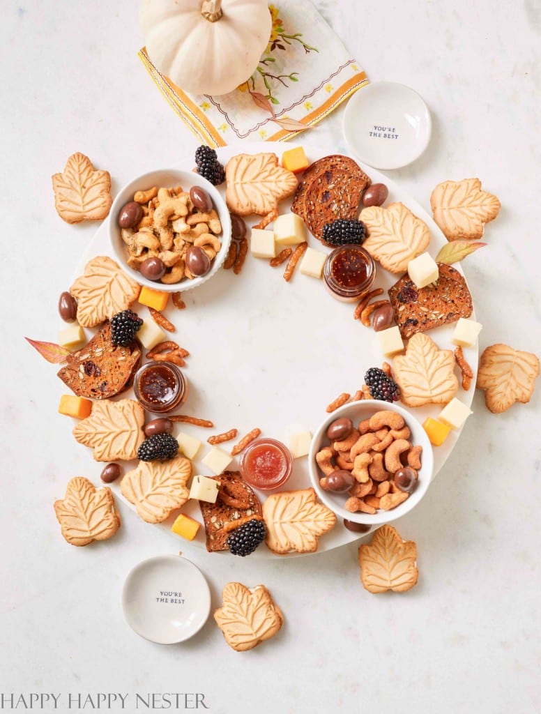
MULTIPOLYGON (((347 423, 340 426, 347 433, 347 423)), ((310 446, 308 467, 313 488, 325 506, 350 523, 378 526, 417 506, 433 476, 434 457, 427 433, 410 412, 394 402, 363 399, 336 409, 320 424, 310 446), (350 419, 353 431, 331 441, 328 428, 338 419, 350 419), (338 470, 341 476, 333 476, 338 470), (409 493, 395 485, 400 470, 405 471, 400 477, 402 486, 408 478, 413 483, 409 493), (349 480, 343 471, 351 474, 349 480), (330 490, 352 482, 352 491, 330 490)))

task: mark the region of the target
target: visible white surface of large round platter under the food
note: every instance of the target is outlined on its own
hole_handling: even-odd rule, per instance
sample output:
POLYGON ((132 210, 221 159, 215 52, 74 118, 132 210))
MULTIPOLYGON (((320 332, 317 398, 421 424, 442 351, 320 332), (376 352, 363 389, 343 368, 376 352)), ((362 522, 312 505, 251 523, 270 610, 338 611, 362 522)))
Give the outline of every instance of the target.
MULTIPOLYGON (((338 153, 329 147, 323 150, 310 146, 308 141, 303 146, 310 162, 328 154, 338 153)), ((236 154, 266 151, 274 152, 280 159, 283 152, 291 148, 293 145, 289 143, 246 142, 218 149, 218 158, 225 164, 236 154)), ((362 164, 361 167, 372 178, 373 183, 381 182, 388 186, 389 196, 384 205, 401 201, 427 223, 430 228, 428 252, 435 257, 447 241, 424 208, 387 176, 362 164)), ((148 166, 149 171, 156 168, 148 166)), ((191 169, 191 159, 187 158, 179 168, 191 169)), ((121 178, 126 182, 130 177, 121 178)), ((224 186, 219 188, 225 191, 224 186)), ((290 200, 281 202, 280 213, 289 211, 290 204, 290 200)), ((108 218, 114 219, 115 216, 111 215, 108 218)), ((258 220, 257 217, 246 219, 248 231, 258 220)), ((308 243, 317 250, 330 252, 330 248, 325 248, 313 236, 309 236, 308 243)), ((108 243, 106 221, 98 228, 81 256, 75 275, 81 275, 90 258, 99 255, 113 257, 108 243)), ((456 263, 454 267, 462 272, 460 263, 456 263)), ((283 279, 283 268, 284 266, 270 268, 268 261, 253 258, 248 253, 240 275, 236 276, 232 270, 221 270, 208 283, 193 291, 186 291, 183 294, 185 310, 179 311, 171 301, 168 303, 165 314, 176 325, 176 332, 171 335, 171 339, 190 352, 190 356, 186 358, 187 366, 183 368, 190 385, 189 395, 181 412, 210 419, 214 423, 213 429, 184 423, 175 424, 173 436, 183 431, 203 442, 193 461, 193 473, 213 476, 201 463, 201 458, 211 448, 206 443, 211 434, 235 427, 238 429, 238 438, 241 438, 251 429, 258 427, 261 428, 262 436, 285 441, 288 427, 293 424, 313 432, 325 418, 327 405, 342 392, 355 393, 363 385, 365 371, 370 367, 381 367, 384 361, 375 332, 353 319, 355 303, 340 303, 325 290, 323 281, 302 275, 298 270, 291 281, 286 283, 283 279)), ((399 277, 378 265, 374 287, 381 287, 386 291, 399 277)), ((182 289, 181 283, 179 289, 182 289)), ((148 317, 147 308, 139 303, 134 303, 132 309, 142 317, 148 317)), ((472 318, 475 318, 475 313, 472 318)), ((453 329, 454 325, 443 326, 428 334, 439 348, 452 349, 453 329)), ((472 385, 475 385, 477 344, 473 348, 465 348, 464 354, 474 371, 472 385)), ((459 387, 456 396, 470 406, 473 391, 473 386, 467 392, 459 387)), ((120 398, 126 396, 132 396, 132 392, 123 393, 120 398)), ((438 416, 440 411, 441 407, 436 405, 411 409, 421 422, 427 416, 438 416)), ((66 438, 72 437, 66 435, 66 438)), ((443 467, 459 438, 460 432, 451 431, 443 446, 434 448, 434 476, 443 467)), ((221 448, 229 450, 233 443, 236 441, 225 443, 221 448)), ((135 466, 135 462, 124 462, 122 466, 126 473, 135 466)), ((93 481, 99 481, 101 468, 103 464, 96 463, 95 471, 89 474, 93 481)), ((235 458, 228 468, 237 470, 238 458, 235 458)), ((119 481, 110 486, 116 498, 123 499, 119 481)), ((293 463, 293 475, 285 488, 293 490, 309 486, 307 457, 296 459, 293 463)), ((261 501, 266 498, 263 492, 258 492, 258 495, 261 501)), ((133 506, 129 503, 128 506, 135 513, 133 506)), ((202 523, 198 502, 188 501, 182 512, 202 523)), ((172 516, 156 526, 141 521, 141 527, 149 531, 152 528, 165 528, 171 533, 171 538, 182 543, 183 549, 205 548, 203 526, 192 541, 192 546, 192 543, 171 532, 173 520, 172 516)), ((338 520, 335 528, 320 538, 318 551, 338 548, 363 537, 365 535, 348 531, 338 520)), ((227 552, 209 553, 211 558, 217 558, 219 555, 233 557, 227 552)), ((275 555, 265 545, 261 545, 250 557, 285 556, 275 555)))

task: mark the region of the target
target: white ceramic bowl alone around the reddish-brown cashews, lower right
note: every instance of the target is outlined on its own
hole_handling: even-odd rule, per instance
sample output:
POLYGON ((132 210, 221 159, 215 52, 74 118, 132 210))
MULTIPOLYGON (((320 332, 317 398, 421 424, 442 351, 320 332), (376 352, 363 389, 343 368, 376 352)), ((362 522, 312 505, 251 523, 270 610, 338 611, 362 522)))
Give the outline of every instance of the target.
POLYGON ((390 523, 395 521, 401 516, 405 516, 409 513, 420 500, 425 495, 430 485, 430 481, 433 476, 433 466, 434 458, 432 445, 428 439, 427 433, 425 432, 423 426, 420 422, 413 416, 412 413, 407 411, 405 408, 399 406, 395 402, 389 403, 385 401, 380 401, 378 399, 362 400, 358 402, 350 402, 341 406, 340 408, 329 414, 327 418, 318 426, 317 430, 314 432, 312 438, 312 443, 310 444, 310 453, 308 454, 308 471, 310 473, 310 481, 312 482, 313 488, 315 488, 318 498, 322 501, 325 506, 334 511, 337 516, 345 518, 348 521, 353 521, 355 523, 364 523, 368 526, 377 526, 383 523, 390 523), (421 456, 421 468, 419 470, 418 484, 415 491, 410 494, 407 501, 404 501, 393 508, 391 511, 377 511, 374 515, 370 513, 350 513, 346 511, 343 504, 348 498, 347 493, 331 493, 330 491, 325 491, 321 488, 319 484, 319 479, 323 474, 320 472, 317 463, 315 462, 315 454, 320 451, 320 448, 327 446, 329 440, 326 436, 326 431, 328 426, 330 426, 333 421, 342 417, 350 417, 353 419, 355 426, 358 421, 363 418, 368 418, 368 415, 375 413, 376 411, 390 410, 398 412, 403 416, 405 423, 410 427, 412 436, 411 441, 413 444, 420 444, 423 446, 423 454, 421 456), (352 416, 353 414, 358 416, 352 416), (363 416, 364 415, 364 416, 363 416))

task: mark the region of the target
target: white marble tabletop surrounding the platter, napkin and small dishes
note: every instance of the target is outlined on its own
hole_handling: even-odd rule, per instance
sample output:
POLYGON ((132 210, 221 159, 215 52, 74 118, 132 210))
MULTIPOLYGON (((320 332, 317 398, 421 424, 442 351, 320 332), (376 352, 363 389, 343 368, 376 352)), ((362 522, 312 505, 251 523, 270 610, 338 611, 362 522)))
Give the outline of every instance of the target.
MULTIPOLYGON (((445 178, 479 176, 501 198, 490 247, 465 266, 480 346, 539 353, 540 1, 316 5, 370 79, 410 84, 430 106, 428 151, 390 175, 425 208, 445 178)), ((418 544, 420 581, 409 593, 363 590, 355 545, 255 562, 183 545, 213 605, 228 580, 265 583, 283 631, 243 655, 212 620, 172 647, 124 623, 128 570, 178 546, 122 503, 113 540, 79 549, 60 538, 52 503, 89 461, 56 415, 54 367, 22 338, 54 336, 58 295, 96 230, 59 220, 51 174, 84 151, 111 171, 116 192, 150 162, 191 154, 196 139, 136 56, 133 2, 4 2, 2 17, 1 692, 61 693, 64 711, 68 693, 128 694, 133 711, 135 694, 149 692, 204 693, 221 714, 538 711, 539 384, 530 404, 501 416, 475 395, 460 445, 400 521, 418 544)), ((310 141, 339 139, 340 122, 337 111, 310 141)))

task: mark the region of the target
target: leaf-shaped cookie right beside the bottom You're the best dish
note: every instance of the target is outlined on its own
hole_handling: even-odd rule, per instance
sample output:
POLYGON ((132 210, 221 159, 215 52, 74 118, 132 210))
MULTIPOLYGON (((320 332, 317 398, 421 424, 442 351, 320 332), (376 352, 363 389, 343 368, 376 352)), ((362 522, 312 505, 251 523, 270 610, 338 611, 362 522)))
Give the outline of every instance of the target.
POLYGON ((237 652, 261 645, 282 626, 282 612, 264 585, 249 589, 242 583, 228 583, 222 600, 214 619, 228 645, 237 652))

